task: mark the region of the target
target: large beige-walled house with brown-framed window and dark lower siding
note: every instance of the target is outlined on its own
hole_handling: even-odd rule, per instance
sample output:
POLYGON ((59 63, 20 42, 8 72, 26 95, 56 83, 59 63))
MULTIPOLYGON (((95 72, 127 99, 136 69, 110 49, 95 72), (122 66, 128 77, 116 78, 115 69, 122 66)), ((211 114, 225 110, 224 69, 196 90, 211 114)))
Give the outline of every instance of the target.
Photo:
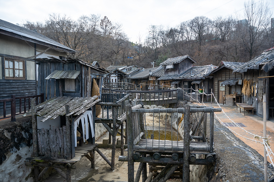
POLYGON ((28 110, 28 98, 40 94, 33 58, 51 56, 62 59, 67 53, 75 51, 36 31, 0 20, 0 117, 8 117, 11 108, 15 108, 14 114, 28 110))

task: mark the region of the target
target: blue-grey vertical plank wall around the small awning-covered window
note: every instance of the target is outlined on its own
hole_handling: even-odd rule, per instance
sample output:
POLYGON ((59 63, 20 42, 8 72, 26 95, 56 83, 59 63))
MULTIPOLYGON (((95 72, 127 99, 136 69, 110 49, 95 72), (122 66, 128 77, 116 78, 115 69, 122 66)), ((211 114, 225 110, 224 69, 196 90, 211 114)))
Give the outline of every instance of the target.
MULTIPOLYGON (((45 78, 52 73, 54 70, 83 70, 83 75, 80 73, 78 78, 76 78, 76 92, 75 93, 63 93, 64 96, 72 96, 72 97, 81 97, 81 96, 90 96, 91 92, 91 84, 90 80, 88 79, 86 82, 80 82, 82 81, 82 78, 86 80, 86 75, 90 70, 87 72, 87 67, 80 65, 79 63, 69 63, 69 64, 63 64, 61 62, 55 62, 55 63, 40 63, 38 66, 38 82, 37 82, 37 93, 44 93, 44 98, 50 99, 54 96, 59 96, 59 82, 55 79, 48 79, 45 78), (88 85, 88 87, 86 87, 88 85), (82 95, 82 88, 88 89, 89 93, 82 95)), ((84 90, 83 90, 84 91, 84 90)))

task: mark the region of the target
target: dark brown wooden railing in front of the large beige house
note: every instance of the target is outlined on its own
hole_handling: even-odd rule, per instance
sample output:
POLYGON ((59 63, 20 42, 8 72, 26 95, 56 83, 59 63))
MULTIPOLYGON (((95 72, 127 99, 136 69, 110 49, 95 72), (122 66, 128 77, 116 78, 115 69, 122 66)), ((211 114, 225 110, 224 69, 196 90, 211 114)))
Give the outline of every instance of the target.
POLYGON ((10 99, 0 99, 0 119, 9 118, 11 117, 11 122, 15 122, 16 115, 26 113, 27 110, 30 110, 30 99, 36 98, 36 105, 39 103, 44 102, 44 94, 41 93, 40 95, 34 96, 15 96, 11 95, 10 99), (40 98, 40 99, 39 99, 40 98), (3 107, 1 107, 3 106, 3 107))

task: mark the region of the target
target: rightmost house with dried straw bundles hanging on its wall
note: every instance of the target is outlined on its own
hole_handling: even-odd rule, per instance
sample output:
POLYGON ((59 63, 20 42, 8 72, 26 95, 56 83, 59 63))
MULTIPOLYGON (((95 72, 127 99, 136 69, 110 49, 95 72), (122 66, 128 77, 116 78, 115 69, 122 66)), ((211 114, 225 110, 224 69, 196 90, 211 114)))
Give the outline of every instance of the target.
POLYGON ((242 73, 243 84, 248 83, 243 103, 254 107, 257 116, 263 117, 263 95, 266 96, 266 116, 273 117, 274 109, 274 47, 265 50, 244 65, 234 69, 233 73, 242 73), (248 94, 250 93, 250 94, 248 94))

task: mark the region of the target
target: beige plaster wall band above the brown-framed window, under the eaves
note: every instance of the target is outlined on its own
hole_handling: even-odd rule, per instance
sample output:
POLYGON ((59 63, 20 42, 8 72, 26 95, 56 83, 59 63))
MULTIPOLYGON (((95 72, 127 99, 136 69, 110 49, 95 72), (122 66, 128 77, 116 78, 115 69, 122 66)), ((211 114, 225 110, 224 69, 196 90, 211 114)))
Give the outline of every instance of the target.
POLYGON ((34 55, 34 43, 1 34, 0 54, 30 57, 34 55))

